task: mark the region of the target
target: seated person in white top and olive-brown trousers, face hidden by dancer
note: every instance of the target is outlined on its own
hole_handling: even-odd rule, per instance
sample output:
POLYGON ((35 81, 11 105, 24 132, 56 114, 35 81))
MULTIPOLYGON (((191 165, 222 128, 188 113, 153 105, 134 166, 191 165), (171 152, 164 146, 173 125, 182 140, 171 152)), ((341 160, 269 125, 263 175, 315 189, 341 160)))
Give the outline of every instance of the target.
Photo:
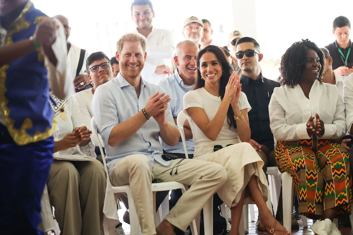
POLYGON ((119 223, 114 195, 108 191, 110 182, 107 184, 103 164, 93 157, 90 130, 81 123, 76 99, 71 96, 60 100, 51 95, 56 102, 52 108, 58 125, 47 181, 50 204, 62 235, 100 234, 103 218, 113 219, 109 221, 111 227, 119 223), (106 203, 108 211, 103 210, 106 203))

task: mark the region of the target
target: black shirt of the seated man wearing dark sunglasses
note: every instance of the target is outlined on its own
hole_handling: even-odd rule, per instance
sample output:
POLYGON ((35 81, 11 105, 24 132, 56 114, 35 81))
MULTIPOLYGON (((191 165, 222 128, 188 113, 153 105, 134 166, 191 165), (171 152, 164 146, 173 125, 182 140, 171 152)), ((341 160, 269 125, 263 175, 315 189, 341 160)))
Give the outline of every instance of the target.
POLYGON ((251 138, 270 150, 274 150, 268 105, 273 89, 279 87, 280 83, 264 78, 262 74, 260 74, 258 80, 252 80, 243 74, 241 75, 240 83, 251 106, 251 110, 247 113, 249 116, 251 138))

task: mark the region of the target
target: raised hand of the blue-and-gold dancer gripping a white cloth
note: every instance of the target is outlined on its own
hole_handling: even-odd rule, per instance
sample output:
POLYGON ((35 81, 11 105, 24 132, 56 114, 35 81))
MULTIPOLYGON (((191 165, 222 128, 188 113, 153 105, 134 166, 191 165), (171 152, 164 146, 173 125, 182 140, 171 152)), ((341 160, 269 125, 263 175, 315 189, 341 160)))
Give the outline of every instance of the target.
POLYGON ((41 46, 50 47, 56 40, 56 29, 58 27, 54 20, 43 18, 37 25, 33 40, 37 41, 41 46))

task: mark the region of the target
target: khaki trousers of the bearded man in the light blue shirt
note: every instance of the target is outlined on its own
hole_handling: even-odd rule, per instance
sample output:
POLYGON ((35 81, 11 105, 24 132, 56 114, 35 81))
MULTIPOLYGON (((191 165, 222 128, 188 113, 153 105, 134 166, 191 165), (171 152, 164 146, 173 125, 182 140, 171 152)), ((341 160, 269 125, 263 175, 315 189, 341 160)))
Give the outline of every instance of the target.
POLYGON ((152 169, 145 155, 136 154, 118 161, 109 176, 113 186, 130 184, 142 233, 154 235, 152 180, 177 181, 191 186, 165 217, 185 231, 207 200, 225 183, 227 172, 219 164, 194 159, 172 160, 169 166, 155 161, 152 169))

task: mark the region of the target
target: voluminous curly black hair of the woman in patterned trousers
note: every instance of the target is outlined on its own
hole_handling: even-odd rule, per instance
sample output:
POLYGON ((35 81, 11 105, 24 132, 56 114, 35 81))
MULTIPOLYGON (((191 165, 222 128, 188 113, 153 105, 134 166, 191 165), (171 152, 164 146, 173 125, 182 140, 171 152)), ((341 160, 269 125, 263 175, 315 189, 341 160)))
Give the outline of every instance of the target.
POLYGON ((291 88, 298 85, 300 79, 303 78, 303 72, 306 66, 306 56, 308 49, 314 50, 320 58, 321 70, 317 80, 322 83, 322 73, 325 69, 324 54, 317 45, 309 39, 301 39, 295 42, 288 48, 281 58, 281 76, 282 85, 287 85, 291 88))

